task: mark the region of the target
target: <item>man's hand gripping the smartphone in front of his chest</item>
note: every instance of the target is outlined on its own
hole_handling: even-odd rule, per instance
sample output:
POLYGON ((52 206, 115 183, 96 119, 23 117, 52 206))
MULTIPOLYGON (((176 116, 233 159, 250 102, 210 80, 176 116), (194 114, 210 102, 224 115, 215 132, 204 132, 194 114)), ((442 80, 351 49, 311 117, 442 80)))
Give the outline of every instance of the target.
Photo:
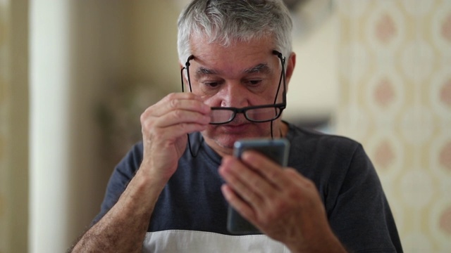
POLYGON ((328 226, 316 186, 295 169, 282 169, 249 150, 240 159, 223 157, 219 173, 226 181, 221 190, 233 209, 292 252, 338 241, 328 226))

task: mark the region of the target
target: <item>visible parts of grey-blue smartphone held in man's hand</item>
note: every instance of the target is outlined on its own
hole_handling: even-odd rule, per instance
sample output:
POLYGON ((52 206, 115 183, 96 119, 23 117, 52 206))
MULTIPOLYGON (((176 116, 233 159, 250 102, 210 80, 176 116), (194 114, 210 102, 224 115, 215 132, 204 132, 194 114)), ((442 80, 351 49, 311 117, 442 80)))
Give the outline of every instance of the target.
MULTIPOLYGON (((240 158, 246 150, 255 150, 282 167, 288 164, 290 143, 285 138, 278 139, 247 139, 236 141, 233 155, 240 158)), ((261 234, 249 221, 243 218, 232 206, 228 207, 227 230, 236 235, 261 234)))

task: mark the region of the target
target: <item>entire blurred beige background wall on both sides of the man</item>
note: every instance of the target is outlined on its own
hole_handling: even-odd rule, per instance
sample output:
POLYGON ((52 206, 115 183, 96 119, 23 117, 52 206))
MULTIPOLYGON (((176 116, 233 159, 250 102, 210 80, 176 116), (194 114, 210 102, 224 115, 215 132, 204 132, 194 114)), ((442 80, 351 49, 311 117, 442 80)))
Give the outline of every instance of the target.
MULTIPOLYGON (((286 1, 285 119, 361 142, 405 252, 451 249, 451 1, 286 1)), ((0 252, 64 252, 140 113, 180 91, 184 0, 0 0, 0 252)))

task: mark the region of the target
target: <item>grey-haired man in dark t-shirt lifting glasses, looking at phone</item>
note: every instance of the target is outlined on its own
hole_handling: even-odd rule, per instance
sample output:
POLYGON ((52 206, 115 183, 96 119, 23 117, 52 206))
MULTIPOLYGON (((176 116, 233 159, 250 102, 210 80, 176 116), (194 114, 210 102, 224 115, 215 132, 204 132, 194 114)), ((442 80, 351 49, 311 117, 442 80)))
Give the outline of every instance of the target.
POLYGON ((282 1, 194 0, 178 20, 182 86, 142 113, 74 252, 402 252, 359 143, 284 122, 296 56, 282 1), (286 138, 288 167, 235 141, 286 138), (228 205, 261 231, 233 235, 228 205))

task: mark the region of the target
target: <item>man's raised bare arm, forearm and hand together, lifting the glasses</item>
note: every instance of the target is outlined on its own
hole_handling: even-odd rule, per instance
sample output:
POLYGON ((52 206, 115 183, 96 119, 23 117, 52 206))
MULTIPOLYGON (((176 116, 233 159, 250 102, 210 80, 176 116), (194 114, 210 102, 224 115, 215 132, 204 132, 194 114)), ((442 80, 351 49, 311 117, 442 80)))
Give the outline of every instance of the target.
POLYGON ((141 115, 140 169, 116 205, 82 235, 73 252, 140 252, 156 200, 185 151, 187 133, 209 124, 209 106, 192 93, 172 93, 141 115))

